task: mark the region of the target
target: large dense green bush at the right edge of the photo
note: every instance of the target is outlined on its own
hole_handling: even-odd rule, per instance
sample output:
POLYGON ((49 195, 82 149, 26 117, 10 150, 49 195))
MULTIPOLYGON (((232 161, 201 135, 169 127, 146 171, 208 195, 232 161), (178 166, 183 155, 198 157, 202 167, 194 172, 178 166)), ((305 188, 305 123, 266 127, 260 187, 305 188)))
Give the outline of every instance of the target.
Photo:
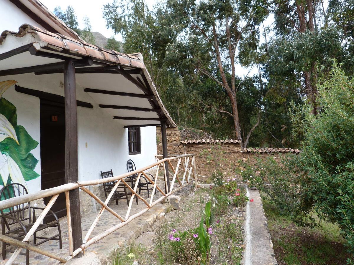
POLYGON ((307 176, 301 182, 297 222, 315 210, 338 224, 354 255, 354 81, 333 65, 331 78, 318 90, 319 114, 310 115, 310 106, 302 108, 304 140, 298 165, 307 176))

